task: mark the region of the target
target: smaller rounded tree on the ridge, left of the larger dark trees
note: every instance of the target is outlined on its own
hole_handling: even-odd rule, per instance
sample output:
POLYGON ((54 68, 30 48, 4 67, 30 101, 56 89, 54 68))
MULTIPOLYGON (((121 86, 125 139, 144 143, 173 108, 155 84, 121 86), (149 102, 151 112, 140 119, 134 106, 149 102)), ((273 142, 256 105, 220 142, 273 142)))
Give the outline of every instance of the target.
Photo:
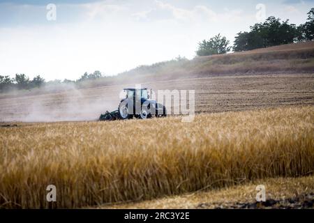
POLYGON ((209 56, 213 54, 225 54, 230 52, 231 47, 228 47, 230 41, 225 36, 220 36, 220 33, 213 38, 202 40, 198 43, 197 56, 209 56))

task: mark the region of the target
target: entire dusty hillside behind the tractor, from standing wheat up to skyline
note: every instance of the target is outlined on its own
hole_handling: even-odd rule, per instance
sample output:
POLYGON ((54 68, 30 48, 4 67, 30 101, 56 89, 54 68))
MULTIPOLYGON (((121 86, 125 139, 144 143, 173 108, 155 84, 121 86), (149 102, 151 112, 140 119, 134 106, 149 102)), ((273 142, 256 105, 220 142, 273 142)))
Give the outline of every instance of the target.
POLYGON ((117 109, 119 93, 142 84, 195 90, 195 112, 314 105, 314 42, 141 66, 78 85, 0 95, 0 121, 87 121, 117 109))

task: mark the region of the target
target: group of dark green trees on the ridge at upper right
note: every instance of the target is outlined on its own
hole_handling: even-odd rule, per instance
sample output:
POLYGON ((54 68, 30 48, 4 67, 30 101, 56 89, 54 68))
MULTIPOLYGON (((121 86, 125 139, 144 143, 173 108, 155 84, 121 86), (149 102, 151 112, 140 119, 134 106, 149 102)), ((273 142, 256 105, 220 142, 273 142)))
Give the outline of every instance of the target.
POLYGON ((241 52, 314 40, 314 8, 311 8, 307 15, 306 22, 299 26, 290 24, 289 20, 282 22, 281 19, 274 16, 268 17, 264 22, 250 26, 250 31, 237 33, 233 47, 229 46, 229 40, 218 34, 209 40, 202 40, 198 43, 196 54, 197 56, 209 56, 225 54, 231 49, 234 52, 241 52))

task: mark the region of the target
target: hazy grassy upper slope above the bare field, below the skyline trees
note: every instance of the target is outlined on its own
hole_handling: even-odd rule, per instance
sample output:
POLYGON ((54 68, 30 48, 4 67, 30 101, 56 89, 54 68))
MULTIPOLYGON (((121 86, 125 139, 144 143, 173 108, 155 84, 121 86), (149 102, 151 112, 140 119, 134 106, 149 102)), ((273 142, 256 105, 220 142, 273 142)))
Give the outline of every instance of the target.
MULTIPOLYGON (((138 66, 132 70, 121 72, 117 76, 103 77, 77 83, 75 88, 106 86, 112 84, 138 83, 146 80, 178 79, 186 77, 206 77, 209 75, 244 74, 263 72, 313 72, 314 70, 314 41, 279 45, 246 52, 230 54, 197 56, 195 59, 184 58, 163 61, 149 66, 138 66), (149 76, 149 77, 147 77, 149 76), (126 77, 127 80, 126 80, 126 77), (132 79, 130 79, 132 77, 132 79)), ((33 95, 45 91, 67 91, 69 84, 32 89, 8 95, 33 95)), ((70 84, 71 85, 71 84, 70 84)), ((1 95, 0 98, 8 95, 1 95)))

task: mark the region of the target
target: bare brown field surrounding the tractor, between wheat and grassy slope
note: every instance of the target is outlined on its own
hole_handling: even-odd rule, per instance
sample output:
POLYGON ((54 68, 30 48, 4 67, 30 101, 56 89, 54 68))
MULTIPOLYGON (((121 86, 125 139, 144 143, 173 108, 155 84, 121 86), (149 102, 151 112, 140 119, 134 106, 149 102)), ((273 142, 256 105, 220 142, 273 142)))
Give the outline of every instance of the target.
MULTIPOLYGON (((195 113, 314 105, 314 73, 209 75, 138 83, 154 91, 195 90, 195 113)), ((0 121, 89 121, 117 109, 117 84, 0 99, 0 121)))

